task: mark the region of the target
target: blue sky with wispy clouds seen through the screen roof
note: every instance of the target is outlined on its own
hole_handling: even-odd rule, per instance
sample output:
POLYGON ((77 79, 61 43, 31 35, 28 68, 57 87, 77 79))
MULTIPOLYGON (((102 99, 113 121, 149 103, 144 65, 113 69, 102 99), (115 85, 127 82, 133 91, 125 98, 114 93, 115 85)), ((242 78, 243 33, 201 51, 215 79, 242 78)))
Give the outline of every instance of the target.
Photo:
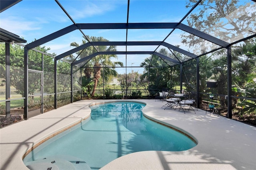
MULTIPOLYGON (((59 0, 76 23, 126 23, 127 0, 59 0)), ((129 22, 179 22, 190 10, 186 0, 130 0, 129 22)), ((241 2, 248 2, 242 0, 241 2)), ((186 20, 182 22, 187 24, 186 20)), ((72 21, 54 0, 22 0, 0 13, 0 27, 12 32, 27 43, 52 34, 72 25, 72 21)), ((128 30, 128 41, 163 41, 172 29, 128 30)), ((83 30, 88 36, 96 36, 109 41, 126 41, 126 30, 83 30)), ((172 45, 191 51, 181 43, 181 30, 175 30, 166 39, 172 45)), ((82 34, 75 30, 41 46, 50 47, 50 53, 60 55, 73 47, 70 43, 82 43, 82 34)), ((128 51, 154 51, 157 46, 128 46, 128 51)), ((160 47, 161 48, 161 47, 160 47)), ((125 51, 125 46, 117 46, 117 51, 125 51)), ((150 55, 118 55, 118 61, 133 66, 134 71, 150 55), (127 61, 127 63, 126 63, 127 61)), ((121 71, 125 73, 124 70, 121 71)), ((130 72, 130 69, 127 70, 130 72)))

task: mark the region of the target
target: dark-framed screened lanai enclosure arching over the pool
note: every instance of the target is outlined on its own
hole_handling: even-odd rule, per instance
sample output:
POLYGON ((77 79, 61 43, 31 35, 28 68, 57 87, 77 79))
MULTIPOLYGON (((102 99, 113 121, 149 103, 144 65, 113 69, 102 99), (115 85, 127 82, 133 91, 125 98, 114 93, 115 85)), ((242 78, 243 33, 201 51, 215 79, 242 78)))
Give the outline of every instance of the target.
POLYGON ((0 8, 5 119, 168 91, 255 123, 252 0, 4 0, 0 8))

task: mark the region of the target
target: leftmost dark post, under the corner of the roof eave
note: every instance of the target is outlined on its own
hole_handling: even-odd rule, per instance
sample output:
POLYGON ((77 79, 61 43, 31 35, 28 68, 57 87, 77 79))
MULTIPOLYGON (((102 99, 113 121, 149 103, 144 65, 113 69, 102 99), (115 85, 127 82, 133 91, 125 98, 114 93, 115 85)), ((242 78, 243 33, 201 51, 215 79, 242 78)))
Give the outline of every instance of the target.
MULTIPOLYGON (((5 99, 10 99, 10 43, 5 43, 5 99)), ((10 117, 10 101, 5 102, 5 119, 10 117)))

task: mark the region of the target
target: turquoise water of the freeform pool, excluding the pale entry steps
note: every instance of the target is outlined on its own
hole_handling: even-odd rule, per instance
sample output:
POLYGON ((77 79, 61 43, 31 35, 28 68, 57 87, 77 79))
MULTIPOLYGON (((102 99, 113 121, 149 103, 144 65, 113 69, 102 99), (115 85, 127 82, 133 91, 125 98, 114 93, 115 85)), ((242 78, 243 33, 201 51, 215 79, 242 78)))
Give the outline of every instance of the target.
POLYGON ((91 169, 100 169, 133 152, 182 151, 196 146, 184 134, 144 117, 144 106, 136 102, 94 105, 90 119, 44 142, 23 161, 28 165, 34 160, 68 155, 84 160, 91 169))

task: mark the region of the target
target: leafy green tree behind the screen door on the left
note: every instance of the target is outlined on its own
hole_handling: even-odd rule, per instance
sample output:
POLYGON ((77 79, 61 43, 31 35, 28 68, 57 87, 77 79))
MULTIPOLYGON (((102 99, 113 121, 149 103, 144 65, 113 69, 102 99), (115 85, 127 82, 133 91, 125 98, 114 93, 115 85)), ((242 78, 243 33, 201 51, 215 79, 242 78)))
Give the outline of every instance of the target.
MULTIPOLYGON (((36 47, 37 50, 47 53, 50 48, 36 47)), ((49 53, 50 54, 50 53, 49 53)), ((50 54, 50 55, 55 55, 50 54)), ((5 77, 5 44, 0 43, 0 68, 1 68, 1 78, 5 77)), ((45 93, 50 92, 53 89, 53 81, 50 75, 54 68, 54 61, 52 57, 44 55, 44 83, 47 83, 44 89, 45 93), (52 81, 52 82, 51 82, 52 81)), ((33 70, 42 71, 42 54, 34 50, 28 51, 28 68, 33 70)), ((6 77, 9 78, 9 77, 6 77)), ((2 79, 5 81, 5 79, 2 79)), ((13 44, 10 45, 10 84, 15 87, 16 93, 24 96, 24 48, 20 45, 13 44)), ((28 73, 28 94, 34 95, 36 90, 41 88, 41 75, 38 73, 28 73)), ((30 98, 30 104, 34 103, 34 97, 30 98)))

